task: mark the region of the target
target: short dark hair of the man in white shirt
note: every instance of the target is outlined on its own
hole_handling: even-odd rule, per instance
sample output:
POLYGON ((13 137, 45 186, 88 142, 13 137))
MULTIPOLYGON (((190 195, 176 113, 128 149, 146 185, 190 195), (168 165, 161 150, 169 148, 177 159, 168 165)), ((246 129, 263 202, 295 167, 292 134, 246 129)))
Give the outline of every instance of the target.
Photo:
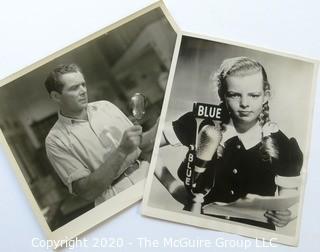
POLYGON ((76 72, 82 73, 80 67, 74 63, 59 65, 53 69, 44 83, 48 93, 50 94, 52 91, 57 91, 61 94, 64 84, 61 82, 60 77, 63 74, 76 72))

